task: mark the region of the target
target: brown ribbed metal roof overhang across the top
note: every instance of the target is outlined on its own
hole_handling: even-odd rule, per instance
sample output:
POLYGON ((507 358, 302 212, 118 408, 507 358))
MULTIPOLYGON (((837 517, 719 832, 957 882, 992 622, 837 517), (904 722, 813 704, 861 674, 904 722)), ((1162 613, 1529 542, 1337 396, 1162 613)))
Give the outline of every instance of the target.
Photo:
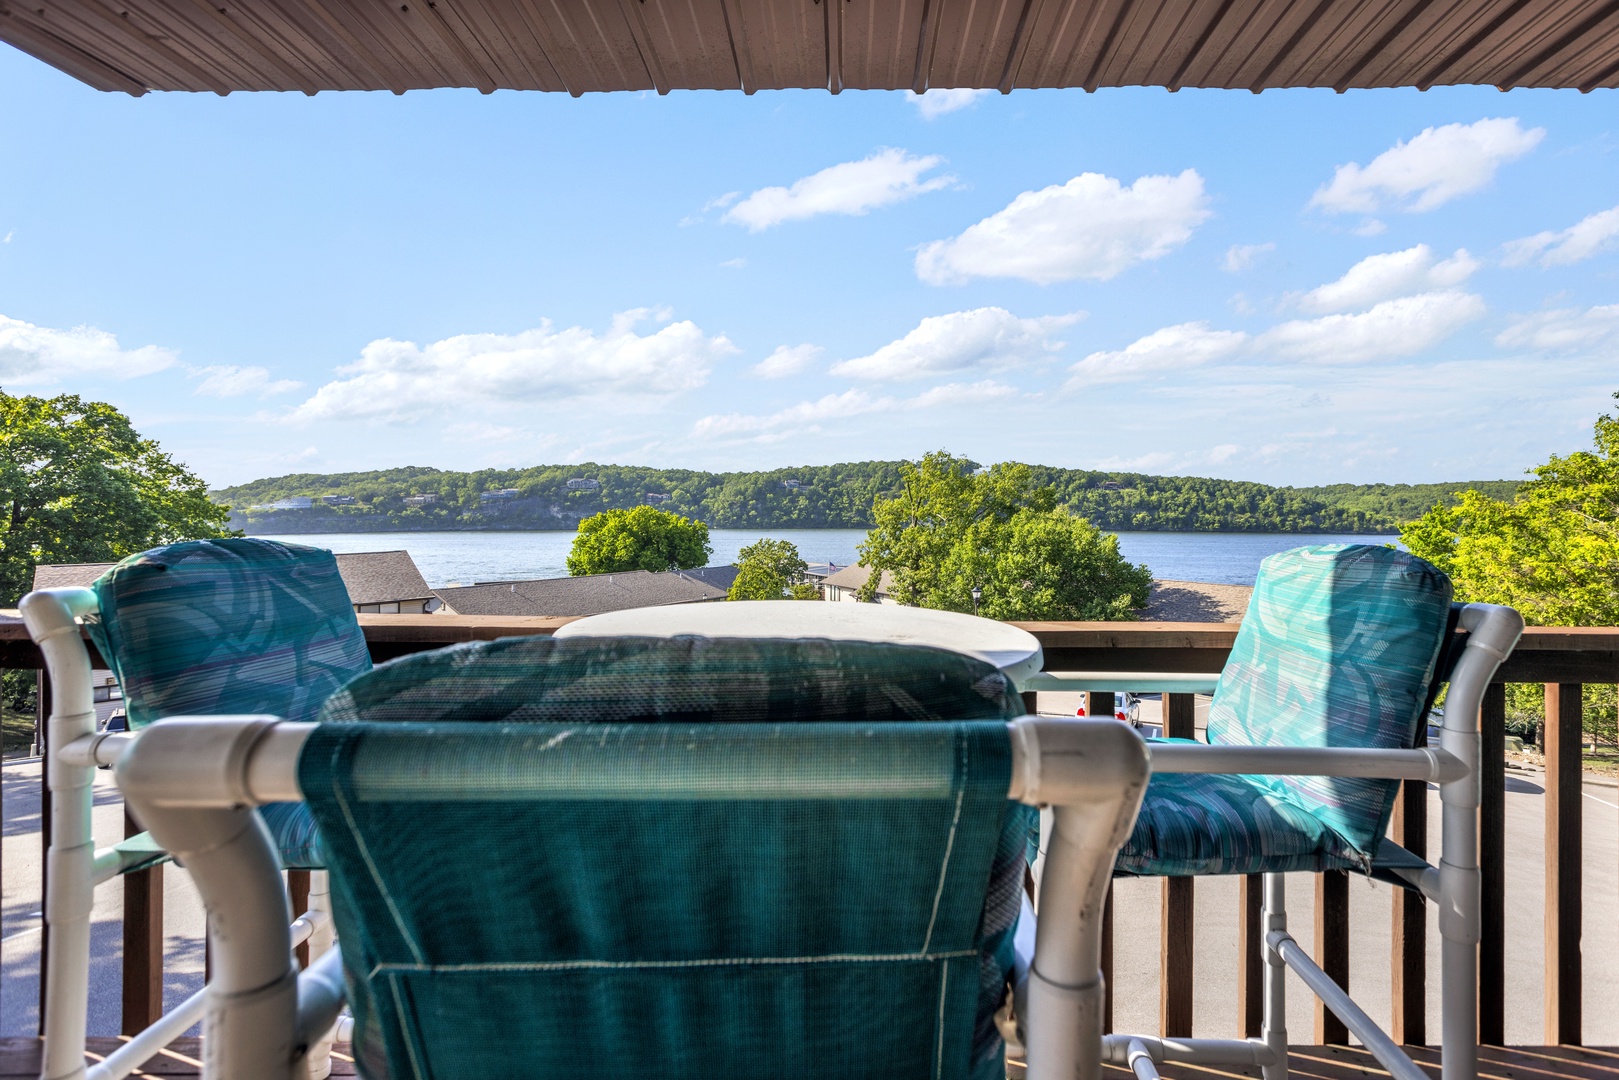
POLYGON ((1608 0, 52 0, 0 40, 104 91, 1619 86, 1608 0))

